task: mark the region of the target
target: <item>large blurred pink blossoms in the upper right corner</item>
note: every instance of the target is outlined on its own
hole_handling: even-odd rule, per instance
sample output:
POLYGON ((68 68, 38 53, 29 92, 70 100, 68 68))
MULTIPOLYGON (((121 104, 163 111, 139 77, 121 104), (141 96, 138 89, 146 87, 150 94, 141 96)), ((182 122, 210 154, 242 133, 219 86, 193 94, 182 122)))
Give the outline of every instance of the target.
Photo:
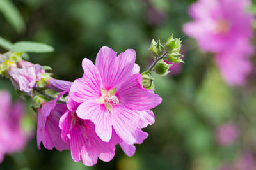
POLYGON ((251 71, 253 15, 246 12, 249 4, 250 0, 199 0, 189 9, 194 20, 184 25, 184 32, 196 39, 202 51, 216 53, 216 63, 230 85, 244 84, 251 71))

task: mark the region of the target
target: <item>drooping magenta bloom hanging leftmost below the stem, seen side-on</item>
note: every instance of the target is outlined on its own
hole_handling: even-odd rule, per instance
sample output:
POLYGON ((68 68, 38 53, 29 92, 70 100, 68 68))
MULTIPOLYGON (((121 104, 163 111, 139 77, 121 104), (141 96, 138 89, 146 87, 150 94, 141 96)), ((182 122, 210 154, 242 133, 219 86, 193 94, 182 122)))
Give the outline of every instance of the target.
POLYGON ((37 122, 37 147, 40 149, 40 143, 43 142, 45 148, 52 150, 67 150, 70 148, 69 142, 65 143, 61 139, 61 129, 59 127, 60 117, 67 111, 65 104, 56 104, 63 94, 67 91, 61 92, 60 95, 49 102, 42 103, 41 108, 38 108, 38 122, 37 122))

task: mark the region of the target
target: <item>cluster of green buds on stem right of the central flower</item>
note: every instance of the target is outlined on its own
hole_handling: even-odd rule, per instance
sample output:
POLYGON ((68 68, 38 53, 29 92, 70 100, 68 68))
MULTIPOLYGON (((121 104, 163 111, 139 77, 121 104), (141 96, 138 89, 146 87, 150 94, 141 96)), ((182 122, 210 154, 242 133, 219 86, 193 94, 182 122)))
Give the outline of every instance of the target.
POLYGON ((150 68, 142 73, 143 87, 154 89, 154 78, 152 78, 151 71, 155 71, 161 76, 166 76, 170 73, 169 69, 173 64, 183 62, 181 59, 183 55, 179 53, 182 46, 181 43, 180 38, 173 38, 173 34, 167 39, 166 43, 161 43, 160 40, 152 40, 148 50, 150 50, 155 60, 150 68))

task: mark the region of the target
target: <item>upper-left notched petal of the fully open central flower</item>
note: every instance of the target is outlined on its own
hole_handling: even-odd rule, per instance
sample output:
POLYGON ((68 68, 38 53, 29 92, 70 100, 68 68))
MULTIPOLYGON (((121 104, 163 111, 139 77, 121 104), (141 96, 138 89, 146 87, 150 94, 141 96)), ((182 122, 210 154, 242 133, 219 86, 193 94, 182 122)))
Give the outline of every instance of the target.
POLYGON ((83 59, 83 69, 83 78, 75 80, 69 92, 70 97, 78 103, 98 99, 101 95, 101 78, 97 68, 90 60, 83 59))

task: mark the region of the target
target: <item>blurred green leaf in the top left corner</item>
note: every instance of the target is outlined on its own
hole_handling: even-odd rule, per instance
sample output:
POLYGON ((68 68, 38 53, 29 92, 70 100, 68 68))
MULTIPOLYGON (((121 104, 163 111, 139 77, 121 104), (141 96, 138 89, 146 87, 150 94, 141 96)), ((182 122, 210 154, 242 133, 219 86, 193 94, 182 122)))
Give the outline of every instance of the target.
POLYGON ((17 8, 10 0, 0 1, 0 11, 3 13, 6 20, 8 20, 8 22, 10 22, 10 24, 12 24, 18 32, 24 31, 25 22, 17 8))

